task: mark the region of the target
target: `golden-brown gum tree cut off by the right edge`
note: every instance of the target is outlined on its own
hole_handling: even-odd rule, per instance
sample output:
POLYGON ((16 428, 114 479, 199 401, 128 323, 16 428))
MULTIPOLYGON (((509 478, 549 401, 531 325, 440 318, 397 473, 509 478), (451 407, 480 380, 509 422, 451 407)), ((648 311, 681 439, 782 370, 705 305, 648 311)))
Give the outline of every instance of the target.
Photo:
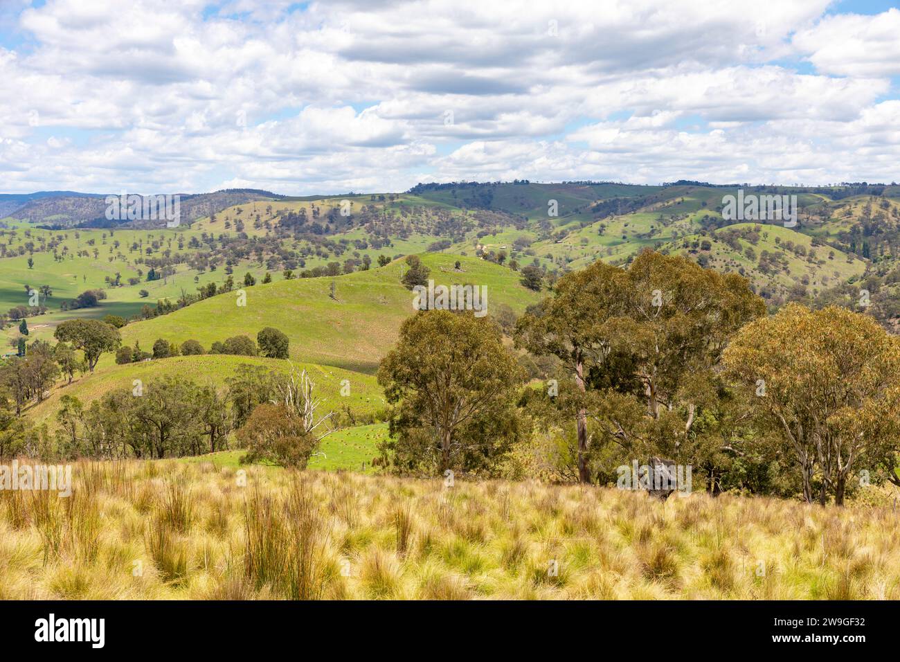
POLYGON ((736 334, 727 375, 792 449, 807 502, 830 491, 841 505, 862 470, 896 476, 900 432, 900 340, 868 315, 789 304, 736 334))

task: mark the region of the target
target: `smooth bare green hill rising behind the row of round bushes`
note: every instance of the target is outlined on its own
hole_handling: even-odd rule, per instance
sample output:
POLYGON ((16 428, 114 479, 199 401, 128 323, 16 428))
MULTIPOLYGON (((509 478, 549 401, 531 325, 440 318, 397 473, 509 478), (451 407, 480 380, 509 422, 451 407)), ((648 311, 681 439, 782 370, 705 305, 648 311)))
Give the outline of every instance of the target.
MULTIPOLYGON (((521 313, 540 295, 519 284, 509 268, 472 257, 427 254, 422 261, 438 285, 470 283, 487 286, 488 311, 498 304, 521 313), (454 270, 455 261, 462 271, 454 270)), ((266 326, 280 329, 291 339, 291 358, 373 373, 378 361, 397 339, 401 322, 413 313, 413 295, 401 285, 402 260, 384 268, 339 277, 304 278, 248 287, 247 305, 237 305, 237 294, 206 299, 175 313, 122 329, 122 342, 149 349, 165 338, 179 344, 199 340, 209 349, 215 340, 247 334, 254 340, 266 326), (336 297, 331 298, 331 283, 336 297)), ((107 363, 112 361, 106 357, 107 363)))

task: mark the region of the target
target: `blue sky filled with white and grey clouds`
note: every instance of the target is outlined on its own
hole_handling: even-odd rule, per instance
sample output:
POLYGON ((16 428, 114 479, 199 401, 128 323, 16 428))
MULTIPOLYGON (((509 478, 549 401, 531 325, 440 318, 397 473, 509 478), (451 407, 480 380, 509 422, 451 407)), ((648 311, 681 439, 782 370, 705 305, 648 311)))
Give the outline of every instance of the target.
POLYGON ((893 5, 0 0, 0 192, 900 180, 893 5))

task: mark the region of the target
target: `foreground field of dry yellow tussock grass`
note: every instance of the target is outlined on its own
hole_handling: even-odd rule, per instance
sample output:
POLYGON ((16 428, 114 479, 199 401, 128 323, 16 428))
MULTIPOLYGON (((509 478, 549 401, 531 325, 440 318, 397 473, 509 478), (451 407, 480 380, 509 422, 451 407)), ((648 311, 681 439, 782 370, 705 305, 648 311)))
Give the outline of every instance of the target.
POLYGON ((176 461, 0 491, 0 599, 900 598, 890 509, 176 461))

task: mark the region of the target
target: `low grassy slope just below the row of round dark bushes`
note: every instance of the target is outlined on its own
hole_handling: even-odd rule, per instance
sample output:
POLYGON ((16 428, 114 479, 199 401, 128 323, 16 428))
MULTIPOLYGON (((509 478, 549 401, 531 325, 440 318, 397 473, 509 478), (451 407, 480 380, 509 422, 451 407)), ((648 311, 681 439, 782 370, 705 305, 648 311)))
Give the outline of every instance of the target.
MULTIPOLYGON (((63 395, 75 395, 83 403, 90 404, 113 388, 130 389, 135 379, 140 379, 147 385, 157 377, 179 376, 221 386, 243 364, 263 366, 284 374, 291 369, 288 361, 275 358, 222 355, 160 358, 124 366, 107 365, 98 367, 93 374, 76 378, 70 385, 58 384, 46 400, 33 405, 25 414, 34 422, 51 421, 58 410, 59 398, 63 395)), ((348 406, 354 413, 365 414, 378 412, 385 406, 381 388, 375 383, 373 376, 309 363, 296 363, 294 367, 306 368, 310 373, 316 384, 316 394, 323 400, 323 409, 343 410, 348 406), (341 381, 344 379, 350 382, 350 394, 347 396, 340 394, 341 381)))

